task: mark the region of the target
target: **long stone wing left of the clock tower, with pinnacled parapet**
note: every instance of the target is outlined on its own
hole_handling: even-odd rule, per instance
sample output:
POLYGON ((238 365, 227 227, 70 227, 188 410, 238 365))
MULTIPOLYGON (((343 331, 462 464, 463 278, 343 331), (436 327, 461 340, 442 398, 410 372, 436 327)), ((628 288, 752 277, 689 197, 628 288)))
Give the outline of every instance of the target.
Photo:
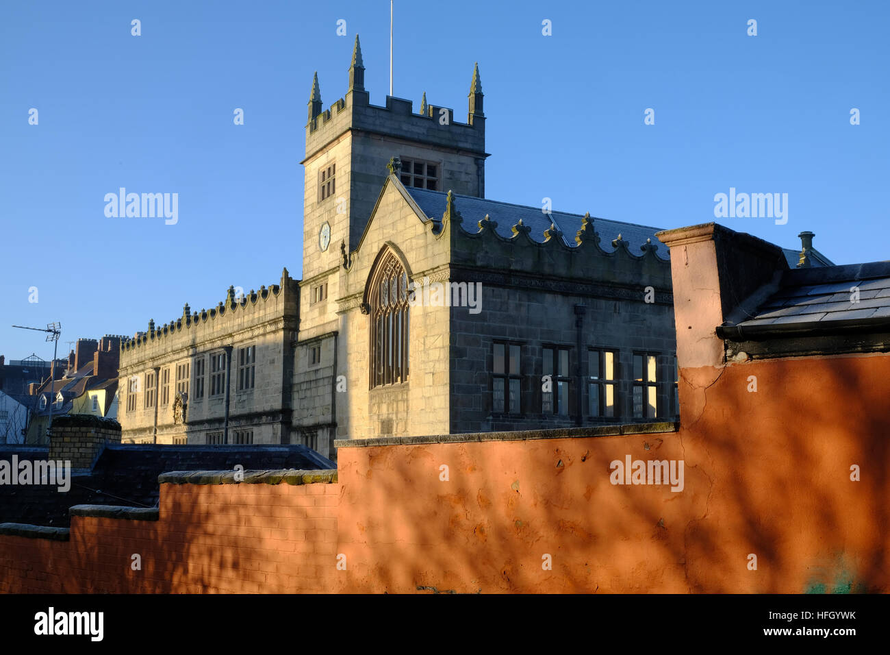
POLYGON ((123 443, 289 443, 299 287, 278 284, 149 322, 121 345, 123 443))

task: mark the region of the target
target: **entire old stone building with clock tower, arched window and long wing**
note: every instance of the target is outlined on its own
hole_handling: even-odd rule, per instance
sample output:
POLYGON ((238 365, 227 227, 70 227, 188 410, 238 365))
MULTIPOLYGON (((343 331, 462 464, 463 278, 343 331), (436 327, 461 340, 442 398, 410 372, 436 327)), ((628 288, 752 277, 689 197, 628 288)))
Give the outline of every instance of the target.
MULTIPOLYGON (((211 313, 186 307, 125 343, 124 440, 240 443, 253 430, 254 443, 334 456, 335 438, 676 419, 659 228, 485 199, 478 66, 465 123, 425 95, 419 113, 371 104, 364 72, 356 37, 343 98, 322 109, 312 80, 302 280, 240 301, 230 290, 211 313), (242 391, 245 352, 257 386, 242 391), (175 396, 188 406, 176 413, 180 374, 206 393, 210 366, 223 388, 175 396)), ((829 265, 805 234, 789 265, 829 265)))

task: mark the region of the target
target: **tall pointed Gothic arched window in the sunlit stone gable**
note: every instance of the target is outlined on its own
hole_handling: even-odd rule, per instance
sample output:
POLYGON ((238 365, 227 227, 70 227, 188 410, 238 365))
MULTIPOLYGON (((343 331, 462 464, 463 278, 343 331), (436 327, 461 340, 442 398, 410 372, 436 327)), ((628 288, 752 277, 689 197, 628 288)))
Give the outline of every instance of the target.
POLYGON ((408 275, 392 252, 377 266, 369 293, 371 388, 408 380, 408 275))

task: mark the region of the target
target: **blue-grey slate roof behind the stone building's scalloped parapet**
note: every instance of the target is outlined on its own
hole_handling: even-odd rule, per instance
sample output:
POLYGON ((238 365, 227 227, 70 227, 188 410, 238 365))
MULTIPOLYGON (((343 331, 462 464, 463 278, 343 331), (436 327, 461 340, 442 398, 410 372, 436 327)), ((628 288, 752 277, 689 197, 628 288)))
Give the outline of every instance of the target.
MULTIPOLYGON (((427 218, 441 218, 445 213, 445 201, 448 198, 447 192, 428 191, 426 189, 417 189, 415 187, 405 187, 411 198, 417 202, 417 206, 423 210, 427 218)), ((549 229, 551 221, 562 231, 562 241, 567 246, 574 247, 575 234, 581 229, 581 220, 584 218, 582 214, 569 214, 564 211, 554 211, 546 215, 541 211, 540 207, 528 207, 526 205, 514 205, 510 202, 490 201, 485 198, 475 198, 473 196, 454 194, 454 206, 464 218, 464 229, 467 232, 476 232, 478 227, 476 224, 485 217, 498 224, 496 232, 501 236, 509 239, 513 236, 510 228, 519 222, 522 218, 522 224, 531 228, 530 236, 538 242, 544 241, 544 231, 549 229)), ((630 245, 630 251, 635 255, 642 255, 640 247, 651 239, 651 242, 658 246, 656 254, 662 259, 669 258, 667 246, 659 242, 655 236, 660 228, 651 227, 649 225, 635 225, 634 223, 622 223, 620 221, 611 221, 605 218, 591 217, 594 222, 594 229, 600 235, 600 247, 606 252, 615 250, 611 246, 611 242, 618 238, 627 241, 630 245)))

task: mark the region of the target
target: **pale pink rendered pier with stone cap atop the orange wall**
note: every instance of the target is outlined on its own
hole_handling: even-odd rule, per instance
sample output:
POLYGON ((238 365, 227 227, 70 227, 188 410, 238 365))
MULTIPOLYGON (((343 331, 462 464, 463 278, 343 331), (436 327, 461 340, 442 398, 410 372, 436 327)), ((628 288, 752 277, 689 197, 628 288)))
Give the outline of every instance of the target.
POLYGON ((754 291, 778 283, 788 260, 779 246, 716 223, 656 236, 670 249, 678 364, 723 366, 724 341, 716 327, 754 291))

